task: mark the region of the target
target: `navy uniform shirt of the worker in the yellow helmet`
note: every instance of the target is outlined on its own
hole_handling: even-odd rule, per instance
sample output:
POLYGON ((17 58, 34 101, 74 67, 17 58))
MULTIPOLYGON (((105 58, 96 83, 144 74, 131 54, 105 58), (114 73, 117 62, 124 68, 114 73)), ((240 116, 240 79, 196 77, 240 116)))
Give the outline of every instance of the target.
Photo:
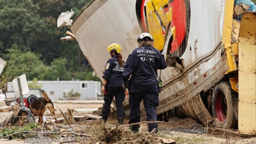
MULTIPOLYGON (((123 61, 125 67, 125 61, 123 61)), ((124 67, 120 67, 117 55, 108 60, 105 73, 102 76, 107 81, 105 87, 122 87, 122 74, 124 67)))

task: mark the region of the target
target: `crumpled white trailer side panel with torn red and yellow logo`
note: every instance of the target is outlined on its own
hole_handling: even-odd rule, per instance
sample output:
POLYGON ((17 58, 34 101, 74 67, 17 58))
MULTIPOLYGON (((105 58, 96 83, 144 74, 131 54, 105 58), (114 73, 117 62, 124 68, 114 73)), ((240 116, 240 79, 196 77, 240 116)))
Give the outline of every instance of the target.
MULTIPOLYGON (((224 0, 94 0, 76 17, 70 29, 101 80, 110 58, 106 52, 109 44, 120 44, 126 60, 137 48, 138 35, 150 32, 154 46, 163 51, 166 59, 176 58, 183 67, 183 70, 168 67, 161 73, 163 87, 157 107, 157 113, 161 114, 188 102, 224 77, 227 70, 221 54, 224 3, 224 0)), ((129 115, 127 99, 124 104, 129 115)), ((199 111, 195 115, 201 116, 199 111)), ((141 120, 145 118, 141 105, 141 120)))

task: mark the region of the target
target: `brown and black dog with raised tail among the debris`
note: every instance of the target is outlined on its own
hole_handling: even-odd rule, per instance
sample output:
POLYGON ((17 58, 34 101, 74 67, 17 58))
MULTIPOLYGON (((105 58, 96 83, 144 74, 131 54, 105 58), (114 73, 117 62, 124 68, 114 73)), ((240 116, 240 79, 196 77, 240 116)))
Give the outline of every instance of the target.
POLYGON ((39 116, 38 123, 43 123, 43 115, 46 109, 49 109, 49 111, 52 113, 52 115, 55 118, 55 123, 57 124, 57 117, 55 115, 54 106, 51 101, 51 99, 48 97, 48 95, 45 93, 44 90, 42 90, 42 95, 44 97, 40 97, 39 99, 36 99, 33 103, 29 105, 29 108, 33 111, 34 116, 39 116))

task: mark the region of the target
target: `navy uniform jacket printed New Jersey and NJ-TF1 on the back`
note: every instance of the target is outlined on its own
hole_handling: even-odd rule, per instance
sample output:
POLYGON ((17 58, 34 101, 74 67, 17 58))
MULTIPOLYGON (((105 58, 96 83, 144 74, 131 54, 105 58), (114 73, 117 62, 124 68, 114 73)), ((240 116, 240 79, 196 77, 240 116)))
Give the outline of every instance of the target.
MULTIPOLYGON (((148 54, 148 58, 156 74, 158 69, 163 70, 166 68, 164 55, 159 50, 151 46, 144 46, 144 49, 148 54)), ((157 92, 158 81, 141 48, 135 48, 126 62, 122 79, 123 83, 128 83, 129 76, 132 75, 128 83, 129 93, 143 92, 145 90, 157 92)))

